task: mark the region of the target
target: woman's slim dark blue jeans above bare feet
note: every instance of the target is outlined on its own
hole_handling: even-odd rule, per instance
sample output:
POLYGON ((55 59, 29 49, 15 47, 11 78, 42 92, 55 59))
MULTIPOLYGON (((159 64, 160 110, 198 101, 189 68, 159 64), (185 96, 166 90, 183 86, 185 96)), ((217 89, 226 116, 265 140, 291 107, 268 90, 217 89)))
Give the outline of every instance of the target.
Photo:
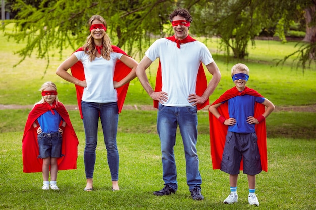
POLYGON ((84 148, 84 166, 86 178, 93 178, 95 165, 95 149, 97 145, 97 130, 99 117, 103 129, 104 143, 106 144, 108 164, 112 181, 119 179, 119 152, 116 144, 118 128, 118 105, 114 103, 81 102, 83 126, 86 136, 84 148))

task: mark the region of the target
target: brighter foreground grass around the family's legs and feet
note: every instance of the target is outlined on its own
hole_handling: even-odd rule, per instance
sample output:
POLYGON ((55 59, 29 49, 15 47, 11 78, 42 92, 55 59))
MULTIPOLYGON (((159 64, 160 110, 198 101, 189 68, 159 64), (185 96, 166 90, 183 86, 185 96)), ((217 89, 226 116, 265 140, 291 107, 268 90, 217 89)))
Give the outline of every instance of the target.
MULTIPOLYGON (((41 173, 23 173, 22 132, 0 133, 0 209, 253 209, 248 205, 246 175, 239 176, 238 203, 225 205, 229 194, 228 175, 213 170, 209 135, 199 135, 197 150, 202 193, 205 200, 193 201, 186 185, 185 160, 180 136, 175 156, 179 188, 176 194, 156 197, 163 186, 159 138, 155 134, 118 134, 120 188, 111 191, 106 149, 98 142, 94 191, 84 192, 84 133, 79 138, 78 168, 58 172, 60 191, 43 191, 41 173)), ((99 133, 101 139, 102 134, 99 133)), ((268 172, 257 175, 260 209, 315 209, 316 143, 290 138, 268 139, 268 172)))

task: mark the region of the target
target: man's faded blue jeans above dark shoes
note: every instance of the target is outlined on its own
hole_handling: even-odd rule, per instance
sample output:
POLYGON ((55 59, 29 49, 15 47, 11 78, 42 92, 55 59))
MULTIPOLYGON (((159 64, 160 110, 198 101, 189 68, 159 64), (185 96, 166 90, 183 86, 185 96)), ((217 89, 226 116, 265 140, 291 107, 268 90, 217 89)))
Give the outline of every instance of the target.
POLYGON ((197 109, 194 107, 169 107, 159 104, 157 130, 161 142, 163 180, 175 190, 178 189, 177 169, 174 156, 176 131, 179 125, 186 161, 186 175, 189 190, 201 189, 201 174, 196 153, 197 109))

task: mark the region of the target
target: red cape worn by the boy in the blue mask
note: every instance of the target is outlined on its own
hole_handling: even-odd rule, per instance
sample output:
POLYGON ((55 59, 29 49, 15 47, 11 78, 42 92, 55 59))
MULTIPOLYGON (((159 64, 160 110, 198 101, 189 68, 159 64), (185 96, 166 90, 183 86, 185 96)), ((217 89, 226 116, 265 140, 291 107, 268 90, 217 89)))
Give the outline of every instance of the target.
MULTIPOLYGON (((233 98, 235 96, 244 95, 244 94, 262 97, 262 95, 259 94, 254 89, 250 89, 246 87, 243 92, 239 92, 236 87, 233 87, 227 90, 223 95, 221 95, 213 104, 218 104, 230 98, 233 98)), ((229 118, 227 103, 221 104, 221 106, 219 106, 217 110, 226 119, 229 118)), ((264 112, 265 112, 265 106, 260 103, 255 103, 254 117, 257 118, 258 116, 262 115, 262 113, 264 112)), ((211 112, 209 112, 210 151, 211 151, 211 156, 212 156, 213 169, 221 169, 221 161, 222 161, 222 155, 223 155, 223 150, 224 150, 224 145, 225 145, 225 140, 226 140, 227 129, 228 129, 227 125, 220 123, 219 120, 211 112)), ((257 143, 258 143, 259 152, 261 156, 262 170, 267 172, 268 171, 268 158, 267 158, 266 121, 256 124, 255 132, 258 137, 257 143)), ((240 170, 243 170, 243 163, 240 164, 240 170)))

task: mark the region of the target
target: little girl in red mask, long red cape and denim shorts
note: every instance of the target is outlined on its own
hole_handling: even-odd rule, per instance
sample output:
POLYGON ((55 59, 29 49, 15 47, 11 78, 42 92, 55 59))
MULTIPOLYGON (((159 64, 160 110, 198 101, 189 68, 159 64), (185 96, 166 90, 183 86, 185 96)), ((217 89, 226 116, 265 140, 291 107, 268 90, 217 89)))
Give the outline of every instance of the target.
POLYGON ((76 168, 78 138, 68 112, 58 101, 56 85, 46 82, 40 91, 42 99, 31 110, 24 130, 23 172, 42 171, 42 189, 49 190, 50 184, 51 189, 59 190, 58 170, 76 168))

